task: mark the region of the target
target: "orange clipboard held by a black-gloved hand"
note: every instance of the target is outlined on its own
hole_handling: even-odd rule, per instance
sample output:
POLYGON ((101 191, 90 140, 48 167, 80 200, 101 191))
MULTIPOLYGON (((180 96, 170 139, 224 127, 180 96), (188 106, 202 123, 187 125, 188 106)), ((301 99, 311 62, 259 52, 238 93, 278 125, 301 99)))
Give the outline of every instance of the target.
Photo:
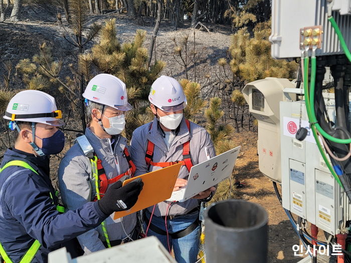
POLYGON ((182 163, 177 163, 157 171, 145 173, 123 182, 123 186, 127 183, 141 178, 144 183, 142 190, 139 194, 138 200, 132 208, 126 211, 115 212, 113 219, 117 219, 128 214, 137 212, 146 207, 162 202, 172 195, 175 181, 177 181, 179 170, 182 163))

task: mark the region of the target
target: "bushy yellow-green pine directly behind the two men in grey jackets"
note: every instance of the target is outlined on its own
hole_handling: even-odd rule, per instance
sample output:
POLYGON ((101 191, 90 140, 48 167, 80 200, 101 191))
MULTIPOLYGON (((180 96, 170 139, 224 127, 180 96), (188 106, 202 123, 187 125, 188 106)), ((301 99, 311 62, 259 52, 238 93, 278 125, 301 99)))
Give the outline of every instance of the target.
POLYGON ((148 111, 148 94, 153 81, 165 66, 162 61, 148 65, 147 49, 143 46, 146 32, 137 30, 133 41, 119 43, 116 20, 106 21, 99 43, 92 47, 93 63, 98 71, 116 76, 127 87, 128 102, 134 109, 128 113, 125 135, 128 139, 140 125, 152 120, 148 111))

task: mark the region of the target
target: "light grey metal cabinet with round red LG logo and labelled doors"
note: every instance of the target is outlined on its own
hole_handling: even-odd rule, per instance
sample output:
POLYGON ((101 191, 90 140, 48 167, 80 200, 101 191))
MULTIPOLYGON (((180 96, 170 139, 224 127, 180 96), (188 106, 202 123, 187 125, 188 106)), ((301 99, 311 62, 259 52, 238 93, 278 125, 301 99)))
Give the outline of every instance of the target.
MULTIPOLYGON (((333 118, 335 107, 327 108, 333 118)), ((283 207, 328 233, 339 233, 351 208, 319 153, 304 101, 280 102, 280 120, 283 207), (302 142, 295 139, 300 126, 309 132, 302 142)))

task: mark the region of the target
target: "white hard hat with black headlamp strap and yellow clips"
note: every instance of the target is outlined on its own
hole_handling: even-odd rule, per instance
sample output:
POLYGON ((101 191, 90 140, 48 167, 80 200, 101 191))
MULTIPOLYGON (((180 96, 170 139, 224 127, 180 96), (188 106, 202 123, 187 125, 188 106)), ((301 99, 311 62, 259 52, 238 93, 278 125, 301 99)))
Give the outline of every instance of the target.
POLYGON ((39 122, 61 126, 62 113, 57 110, 54 97, 38 90, 17 93, 6 109, 4 119, 11 121, 39 122))

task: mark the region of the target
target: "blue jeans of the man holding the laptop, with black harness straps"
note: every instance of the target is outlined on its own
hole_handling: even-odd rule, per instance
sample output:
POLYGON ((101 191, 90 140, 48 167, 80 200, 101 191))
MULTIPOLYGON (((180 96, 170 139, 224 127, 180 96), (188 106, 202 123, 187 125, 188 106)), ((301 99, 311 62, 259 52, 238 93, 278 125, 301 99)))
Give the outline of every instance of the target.
MULTIPOLYGON (((150 218, 150 213, 146 211, 147 218, 150 218)), ((199 217, 199 212, 194 212, 191 214, 185 214, 179 217, 175 217, 171 220, 167 219, 168 233, 174 233, 190 226, 199 217)), ((166 231, 164 219, 161 216, 152 216, 151 224, 157 226, 158 228, 166 231)), ((146 230, 147 225, 144 222, 144 229, 146 230)), ((201 226, 199 225, 190 234, 173 239, 168 235, 168 242, 170 249, 173 248, 175 260, 178 263, 194 263, 197 261, 199 253, 199 242, 200 242, 201 226)), ((163 246, 168 251, 167 236, 155 233, 150 228, 147 231, 147 235, 154 235, 163 244, 163 246)))

